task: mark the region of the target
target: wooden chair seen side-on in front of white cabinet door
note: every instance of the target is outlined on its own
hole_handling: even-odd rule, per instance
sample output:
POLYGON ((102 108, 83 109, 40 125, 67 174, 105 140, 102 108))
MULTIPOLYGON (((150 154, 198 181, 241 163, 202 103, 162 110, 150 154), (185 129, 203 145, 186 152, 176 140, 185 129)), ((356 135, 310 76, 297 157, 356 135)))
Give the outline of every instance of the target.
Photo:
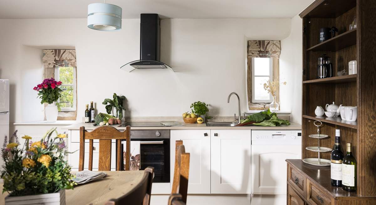
POLYGON ((181 194, 182 201, 186 203, 188 191, 190 154, 185 152, 182 140, 175 142, 175 167, 171 194, 181 194))

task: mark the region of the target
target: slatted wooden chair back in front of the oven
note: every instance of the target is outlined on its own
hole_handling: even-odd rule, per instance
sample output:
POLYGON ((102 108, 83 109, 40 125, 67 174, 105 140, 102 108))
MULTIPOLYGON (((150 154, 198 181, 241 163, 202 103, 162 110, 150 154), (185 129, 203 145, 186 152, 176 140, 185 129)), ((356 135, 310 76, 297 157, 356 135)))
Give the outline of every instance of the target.
POLYGON ((126 127, 125 131, 119 131, 112 126, 101 126, 95 128, 93 131, 88 132, 85 127, 80 127, 80 161, 78 170, 83 170, 85 162, 85 140, 89 140, 89 170, 93 167, 93 140, 99 139, 99 171, 111 170, 111 140, 116 139, 117 144, 117 161, 116 170, 121 170, 121 140, 126 142, 126 163, 125 170, 129 170, 130 165, 130 126, 126 127))

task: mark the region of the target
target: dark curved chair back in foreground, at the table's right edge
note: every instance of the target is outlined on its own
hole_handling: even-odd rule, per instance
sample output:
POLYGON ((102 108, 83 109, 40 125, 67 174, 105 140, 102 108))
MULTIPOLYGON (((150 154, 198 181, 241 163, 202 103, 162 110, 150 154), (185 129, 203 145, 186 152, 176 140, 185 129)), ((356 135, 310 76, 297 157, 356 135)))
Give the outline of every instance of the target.
POLYGON ((154 168, 146 167, 144 176, 139 184, 137 184, 127 194, 117 199, 110 199, 108 202, 106 202, 106 205, 149 205, 150 194, 152 193, 153 175, 154 168))

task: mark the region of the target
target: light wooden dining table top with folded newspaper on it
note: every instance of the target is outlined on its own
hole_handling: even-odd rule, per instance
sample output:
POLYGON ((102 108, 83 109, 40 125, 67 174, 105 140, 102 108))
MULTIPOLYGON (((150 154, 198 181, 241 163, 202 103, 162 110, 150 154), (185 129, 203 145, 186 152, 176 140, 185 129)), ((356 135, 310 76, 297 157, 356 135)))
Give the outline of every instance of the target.
MULTIPOLYGON (((118 198, 130 191, 141 181, 144 171, 108 171, 107 177, 87 184, 77 185, 73 190, 65 190, 65 202, 67 205, 89 204, 103 205, 112 198, 118 198)), ((0 184, 3 190, 3 183, 0 184)), ((0 196, 0 204, 4 204, 4 198, 8 193, 0 196)))

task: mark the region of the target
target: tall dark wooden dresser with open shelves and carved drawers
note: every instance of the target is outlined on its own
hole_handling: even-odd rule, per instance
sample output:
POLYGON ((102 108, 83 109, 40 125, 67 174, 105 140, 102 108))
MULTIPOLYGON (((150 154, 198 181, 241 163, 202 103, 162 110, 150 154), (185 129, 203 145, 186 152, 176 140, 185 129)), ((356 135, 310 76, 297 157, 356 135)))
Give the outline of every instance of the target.
MULTIPOLYGON (((376 205, 376 0, 316 0, 299 16, 303 19, 302 36, 302 159, 316 158, 317 146, 313 124, 323 123, 321 146, 333 148, 335 130, 341 132, 341 145, 352 143, 357 162, 357 188, 346 192, 330 184, 330 166, 320 167, 302 160, 288 164, 287 204, 376 205), (354 18, 356 17, 356 18, 354 18), (356 28, 349 25, 355 20, 356 28), (333 38, 319 42, 320 28, 337 27, 333 38), (331 58, 333 77, 318 79, 318 57, 331 58), (349 71, 349 61, 356 60, 356 74, 337 76, 349 71), (316 116, 317 106, 326 104, 357 106, 356 122, 316 116)), ((330 160, 330 152, 321 157, 330 160)))

